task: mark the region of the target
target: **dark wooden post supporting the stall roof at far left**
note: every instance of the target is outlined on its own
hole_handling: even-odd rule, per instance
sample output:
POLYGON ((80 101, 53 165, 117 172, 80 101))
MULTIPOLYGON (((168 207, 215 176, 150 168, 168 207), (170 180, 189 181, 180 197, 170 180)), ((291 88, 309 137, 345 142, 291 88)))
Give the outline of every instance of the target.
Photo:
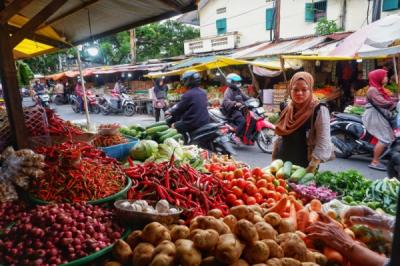
MULTIPOLYGON (((4 10, 5 1, 0 0, 0 10, 4 10)), ((11 130, 11 141, 16 149, 28 147, 28 132, 25 126, 22 99, 18 87, 17 70, 10 45, 7 21, 0 24, 0 75, 11 130)))

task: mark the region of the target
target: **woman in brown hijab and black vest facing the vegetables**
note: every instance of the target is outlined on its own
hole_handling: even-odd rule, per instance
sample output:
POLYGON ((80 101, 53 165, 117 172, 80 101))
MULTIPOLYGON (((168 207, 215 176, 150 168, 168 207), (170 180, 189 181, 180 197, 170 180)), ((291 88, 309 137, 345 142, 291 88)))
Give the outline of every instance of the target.
POLYGON ((329 110, 313 97, 314 78, 298 72, 289 83, 290 103, 282 111, 275 133, 273 159, 291 161, 313 173, 332 155, 329 110))

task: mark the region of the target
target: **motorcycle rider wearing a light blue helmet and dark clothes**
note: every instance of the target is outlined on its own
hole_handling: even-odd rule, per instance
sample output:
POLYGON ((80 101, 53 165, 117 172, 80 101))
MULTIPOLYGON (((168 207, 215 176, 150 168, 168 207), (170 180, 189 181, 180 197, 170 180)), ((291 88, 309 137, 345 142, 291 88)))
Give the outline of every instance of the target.
POLYGON ((239 75, 231 73, 226 76, 226 84, 228 85, 228 89, 224 94, 222 112, 236 126, 236 136, 240 138, 244 133, 246 119, 239 108, 249 97, 240 90, 242 78, 239 75))

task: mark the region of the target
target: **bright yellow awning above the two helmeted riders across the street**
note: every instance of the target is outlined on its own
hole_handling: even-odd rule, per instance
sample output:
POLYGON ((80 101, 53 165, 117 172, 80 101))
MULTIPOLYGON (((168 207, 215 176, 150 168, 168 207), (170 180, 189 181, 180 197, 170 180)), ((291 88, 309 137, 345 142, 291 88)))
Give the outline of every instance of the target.
POLYGON ((193 66, 180 68, 180 69, 175 69, 175 70, 168 71, 168 72, 149 73, 149 74, 145 75, 145 77, 159 78, 159 77, 163 77, 163 76, 179 76, 188 70, 205 71, 205 70, 217 69, 217 68, 223 68, 223 67, 235 66, 235 65, 253 65, 253 66, 259 66, 259 67, 269 68, 269 69, 273 69, 273 70, 280 70, 280 66, 276 65, 274 62, 271 63, 271 62, 259 62, 259 61, 246 61, 246 60, 233 59, 233 58, 225 57, 225 56, 213 56, 213 60, 208 61, 206 63, 193 65, 193 66))

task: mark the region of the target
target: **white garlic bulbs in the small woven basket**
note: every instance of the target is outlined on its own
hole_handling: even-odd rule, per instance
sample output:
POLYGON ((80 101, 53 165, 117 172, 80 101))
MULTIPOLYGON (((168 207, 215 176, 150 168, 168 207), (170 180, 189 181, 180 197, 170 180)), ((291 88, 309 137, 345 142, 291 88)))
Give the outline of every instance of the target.
POLYGON ((179 211, 176 208, 170 208, 168 201, 159 200, 155 207, 148 204, 145 200, 137 200, 131 203, 125 200, 119 204, 121 208, 127 211, 144 212, 152 214, 175 214, 179 211))

